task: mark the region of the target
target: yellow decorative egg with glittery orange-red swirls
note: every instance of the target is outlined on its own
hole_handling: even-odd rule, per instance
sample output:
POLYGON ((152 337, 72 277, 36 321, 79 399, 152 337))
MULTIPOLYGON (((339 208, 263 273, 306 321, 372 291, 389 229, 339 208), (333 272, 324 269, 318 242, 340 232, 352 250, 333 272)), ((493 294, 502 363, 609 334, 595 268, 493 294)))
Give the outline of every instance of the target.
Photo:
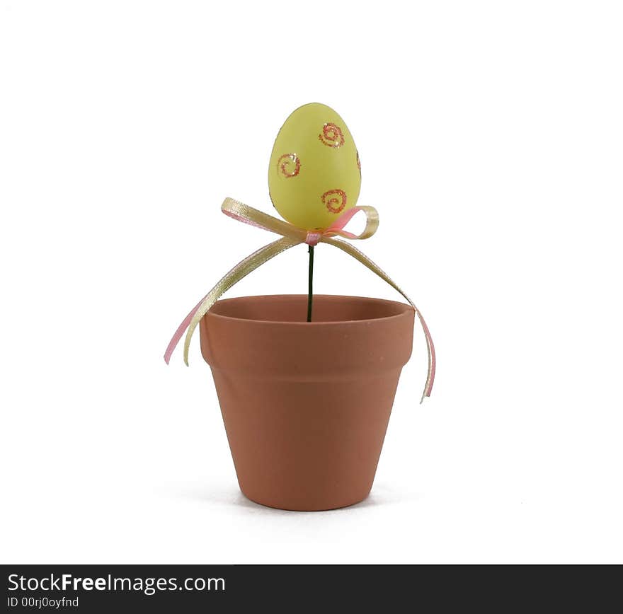
POLYGON ((282 125, 268 167, 275 209, 299 228, 322 230, 355 207, 361 168, 344 120, 320 103, 303 105, 282 125))

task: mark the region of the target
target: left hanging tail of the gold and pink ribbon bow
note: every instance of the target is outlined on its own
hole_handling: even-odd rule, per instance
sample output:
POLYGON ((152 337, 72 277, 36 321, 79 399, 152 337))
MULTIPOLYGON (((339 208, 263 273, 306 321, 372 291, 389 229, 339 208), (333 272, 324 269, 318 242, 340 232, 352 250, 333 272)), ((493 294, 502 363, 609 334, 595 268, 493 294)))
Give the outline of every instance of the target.
MULTIPOLYGON (((212 290, 205 295, 199 305, 187 316, 187 319, 190 319, 190 321, 188 322, 188 330, 186 331, 186 338, 184 341, 184 362, 186 365, 188 365, 188 349, 190 348, 190 340, 193 337, 193 332, 195 332, 195 328, 197 328, 201 318, 203 318, 203 316, 210 311, 210 308, 214 305, 214 303, 216 303, 216 301, 218 301, 219 297, 234 286, 234 284, 237 284, 241 279, 256 270, 265 262, 268 262, 271 258, 285 252, 285 250, 290 249, 299 243, 302 243, 302 240, 298 238, 280 238, 277 241, 273 241, 273 243, 264 245, 263 248, 258 249, 256 252, 248 255, 244 260, 241 260, 241 262, 229 271, 229 273, 219 279, 219 282, 217 282, 214 288, 212 288, 212 290), (189 318, 191 315, 192 317, 189 318)), ((178 335, 178 332, 176 332, 176 335, 173 335, 173 339, 171 340, 173 348, 183 334, 183 327, 185 323, 186 320, 184 320, 180 327, 182 329, 181 332, 180 328, 178 328, 178 332, 180 332, 180 334, 177 337, 177 340, 176 336, 178 335)), ((171 349, 171 352, 173 352, 173 349, 171 349)))

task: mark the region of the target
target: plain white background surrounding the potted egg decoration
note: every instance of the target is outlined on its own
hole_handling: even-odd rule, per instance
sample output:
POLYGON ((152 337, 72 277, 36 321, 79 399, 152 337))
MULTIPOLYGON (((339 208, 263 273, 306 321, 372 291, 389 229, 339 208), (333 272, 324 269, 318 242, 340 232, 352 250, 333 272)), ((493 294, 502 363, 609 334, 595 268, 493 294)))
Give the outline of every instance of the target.
MULTIPOLYGON (((2 1, 3 562, 622 562, 617 2, 2 1), (239 492, 188 309, 272 237, 273 139, 345 119, 421 331, 372 495, 239 492)), ((228 296, 306 291, 295 248, 228 296)), ((331 248, 316 291, 399 299, 331 248)))

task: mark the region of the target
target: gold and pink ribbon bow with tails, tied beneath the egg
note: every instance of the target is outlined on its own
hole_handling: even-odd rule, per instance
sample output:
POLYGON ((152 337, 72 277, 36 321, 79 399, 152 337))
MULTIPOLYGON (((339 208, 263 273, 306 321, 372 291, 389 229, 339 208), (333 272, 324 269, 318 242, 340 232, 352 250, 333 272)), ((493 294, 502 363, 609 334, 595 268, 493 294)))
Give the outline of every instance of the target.
POLYGON ((168 347, 166 348, 166 352, 164 352, 164 361, 166 364, 168 364, 171 360, 173 349, 176 348, 176 345, 179 340, 181 340, 184 331, 186 331, 186 338, 184 341, 184 362, 188 365, 188 349, 190 348, 190 340, 193 337, 195 328, 197 328, 201 318, 203 318, 203 316, 210 311, 210 308, 214 305, 214 303, 216 303, 219 297, 234 286, 234 284, 237 284, 241 279, 256 270, 265 262, 268 262, 271 258, 285 252, 285 250, 288 250, 295 245, 299 245, 300 243, 307 243, 307 245, 328 243, 329 245, 333 245, 333 247, 341 249, 345 253, 353 256, 355 260, 358 260, 362 263, 362 265, 377 274, 392 288, 399 291, 399 293, 404 296, 413 309, 415 309, 424 330, 426 347, 428 349, 428 375, 426 377, 422 400, 424 400, 424 397, 430 396, 430 391, 433 389, 433 381, 435 379, 435 346, 433 345, 433 339, 430 337, 430 331, 428 330, 428 326, 426 325, 422 314, 413 304, 413 301, 411 301, 411 299, 409 299, 409 297, 404 293, 404 291, 402 291, 399 286, 397 286, 389 278, 389 276, 375 264, 375 262, 372 262, 370 258, 361 253, 357 248, 354 248, 353 245, 350 245, 350 243, 333 238, 335 236, 341 236, 349 239, 370 238, 379 227, 379 214, 374 207, 352 207, 339 216, 338 219, 331 224, 331 226, 325 230, 319 231, 306 231, 302 228, 297 228, 297 226, 293 226, 287 221, 283 221, 273 217, 272 215, 258 211, 258 209, 253 209, 253 207, 249 207, 247 204, 238 202, 233 198, 224 199, 224 202, 221 205, 221 211, 229 217, 244 222, 244 224, 251 224, 251 226, 257 226, 258 228, 263 228, 263 230, 277 233, 281 235, 282 238, 277 241, 273 241, 273 243, 269 243, 268 245, 264 245, 263 248, 258 249, 256 252, 253 252, 251 255, 247 256, 244 260, 241 260, 241 262, 229 271, 229 273, 225 274, 224 277, 217 282, 214 288, 212 288, 212 290, 210 290, 210 292, 208 292, 193 307, 190 313, 188 313, 188 315, 184 318, 181 325, 179 325, 178 330, 176 330, 168 344, 168 347), (348 224, 348 222, 353 219, 353 216, 360 211, 364 212, 366 216, 366 224, 362 233, 355 235, 354 233, 345 231, 344 227, 346 224, 348 224))

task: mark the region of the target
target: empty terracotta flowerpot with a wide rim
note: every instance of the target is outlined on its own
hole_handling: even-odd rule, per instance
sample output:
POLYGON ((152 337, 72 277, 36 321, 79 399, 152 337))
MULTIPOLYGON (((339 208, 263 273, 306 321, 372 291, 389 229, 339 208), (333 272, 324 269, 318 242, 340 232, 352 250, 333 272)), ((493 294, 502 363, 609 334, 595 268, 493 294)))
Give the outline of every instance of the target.
POLYGON ((334 509, 370 493, 400 371, 411 306, 355 296, 245 296, 201 324, 238 482, 280 509, 334 509))

